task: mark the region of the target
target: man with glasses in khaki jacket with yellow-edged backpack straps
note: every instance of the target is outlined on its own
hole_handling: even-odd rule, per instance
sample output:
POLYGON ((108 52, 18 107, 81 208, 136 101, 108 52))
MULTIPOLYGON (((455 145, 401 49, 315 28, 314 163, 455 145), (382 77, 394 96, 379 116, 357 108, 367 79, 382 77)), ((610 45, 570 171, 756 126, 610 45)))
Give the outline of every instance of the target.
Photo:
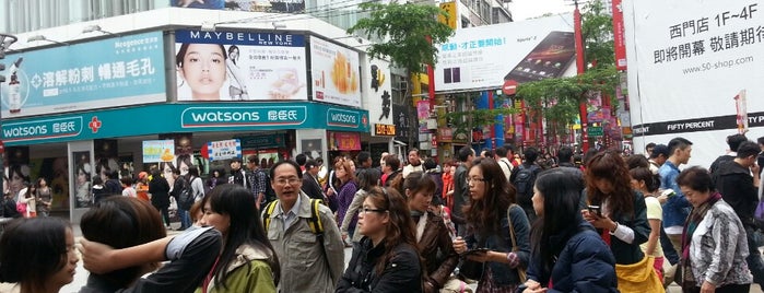
POLYGON ((331 210, 324 204, 318 204, 322 231, 314 233, 310 228, 313 202, 302 191, 301 175, 299 165, 292 161, 279 162, 270 169, 278 200, 266 231, 281 265, 278 291, 334 292, 344 269, 340 230, 331 210))

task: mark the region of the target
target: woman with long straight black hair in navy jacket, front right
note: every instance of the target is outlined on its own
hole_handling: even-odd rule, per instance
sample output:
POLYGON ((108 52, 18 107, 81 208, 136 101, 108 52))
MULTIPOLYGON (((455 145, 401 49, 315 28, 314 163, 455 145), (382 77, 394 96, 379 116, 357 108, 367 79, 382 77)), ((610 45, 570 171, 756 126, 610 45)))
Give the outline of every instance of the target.
POLYGON ((615 258, 578 211, 584 181, 574 168, 536 179, 528 281, 522 292, 618 292, 615 258))

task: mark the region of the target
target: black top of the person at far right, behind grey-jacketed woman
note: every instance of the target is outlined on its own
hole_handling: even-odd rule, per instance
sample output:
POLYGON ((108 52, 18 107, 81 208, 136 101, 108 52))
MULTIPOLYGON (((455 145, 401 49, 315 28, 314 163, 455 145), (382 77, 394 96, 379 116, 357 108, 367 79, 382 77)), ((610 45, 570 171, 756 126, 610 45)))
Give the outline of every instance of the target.
POLYGON ((753 225, 753 212, 759 204, 759 190, 753 186, 751 171, 734 161, 724 162, 714 173, 714 184, 743 225, 753 225))

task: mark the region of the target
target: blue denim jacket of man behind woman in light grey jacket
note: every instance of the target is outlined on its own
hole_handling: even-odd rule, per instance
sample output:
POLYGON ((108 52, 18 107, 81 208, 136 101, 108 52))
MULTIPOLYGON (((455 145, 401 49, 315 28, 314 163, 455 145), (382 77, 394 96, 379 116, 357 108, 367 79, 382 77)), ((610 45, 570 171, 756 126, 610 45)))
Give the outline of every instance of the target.
POLYGON ((666 161, 658 169, 660 175, 660 188, 672 189, 677 192, 675 196, 669 198, 663 203, 663 227, 682 226, 684 220, 690 214, 690 202, 684 198, 684 194, 679 189, 677 176, 679 176, 679 167, 671 161, 666 161))

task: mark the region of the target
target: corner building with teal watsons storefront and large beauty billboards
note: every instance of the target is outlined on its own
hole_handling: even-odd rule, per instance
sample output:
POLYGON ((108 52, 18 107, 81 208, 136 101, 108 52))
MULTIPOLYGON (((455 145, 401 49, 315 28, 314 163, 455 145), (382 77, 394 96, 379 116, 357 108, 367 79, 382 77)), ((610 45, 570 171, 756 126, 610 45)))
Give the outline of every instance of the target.
POLYGON ((207 175, 233 156, 269 166, 392 149, 395 130, 373 131, 395 125, 389 63, 344 30, 304 14, 118 2, 0 1, 0 30, 19 37, 2 60, 19 81, 1 92, 5 191, 46 178, 54 211, 77 223, 106 169, 207 175), (68 16, 32 16, 57 9, 68 16))

